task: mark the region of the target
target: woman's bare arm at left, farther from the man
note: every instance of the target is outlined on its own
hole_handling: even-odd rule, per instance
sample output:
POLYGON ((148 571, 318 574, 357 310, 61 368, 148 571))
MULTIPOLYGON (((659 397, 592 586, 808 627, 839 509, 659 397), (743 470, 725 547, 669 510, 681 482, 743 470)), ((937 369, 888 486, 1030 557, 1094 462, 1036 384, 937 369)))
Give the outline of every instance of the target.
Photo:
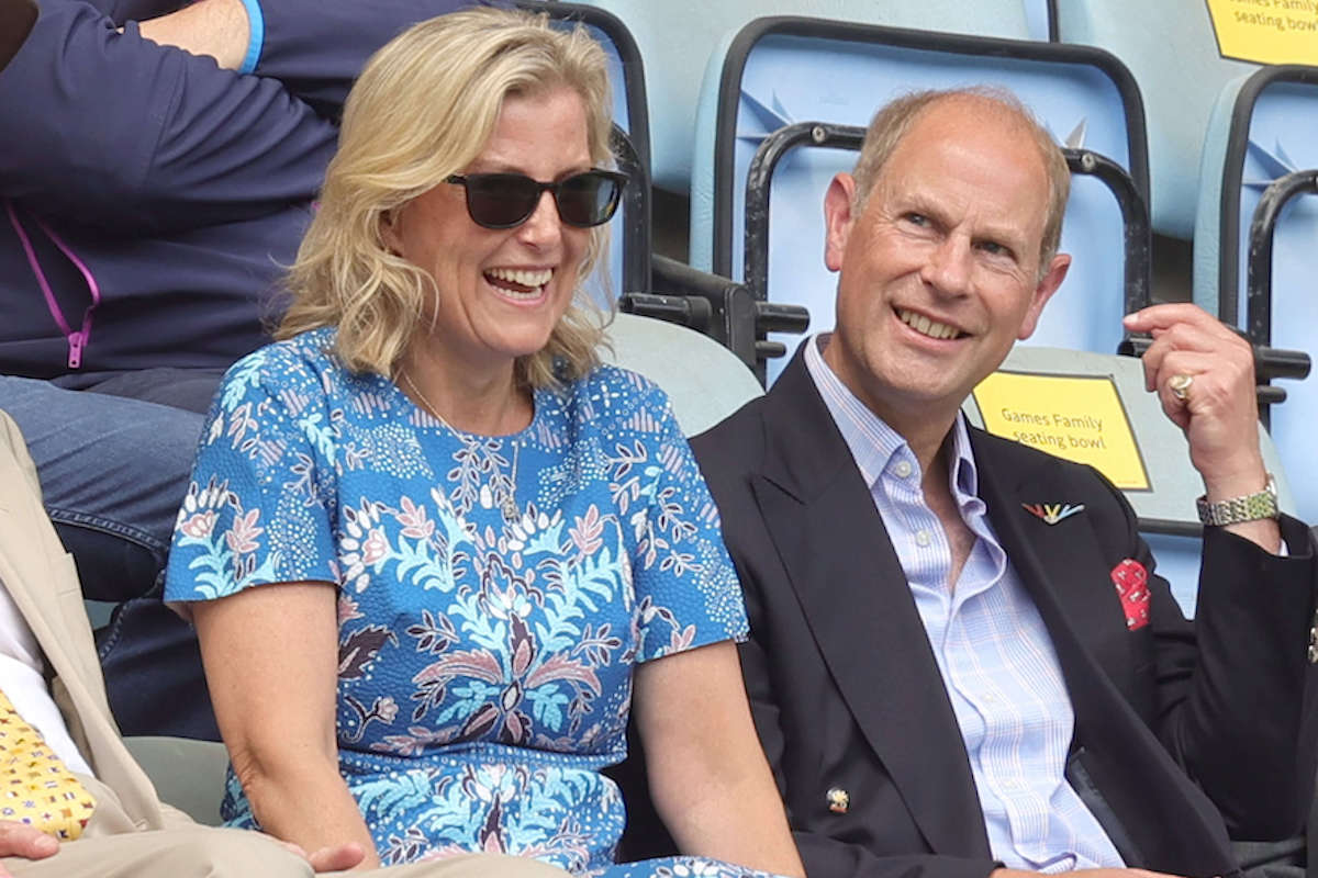
POLYGON ((330 583, 256 586, 190 604, 215 719, 261 828, 306 850, 358 845, 380 864, 339 774, 337 609, 330 583))

